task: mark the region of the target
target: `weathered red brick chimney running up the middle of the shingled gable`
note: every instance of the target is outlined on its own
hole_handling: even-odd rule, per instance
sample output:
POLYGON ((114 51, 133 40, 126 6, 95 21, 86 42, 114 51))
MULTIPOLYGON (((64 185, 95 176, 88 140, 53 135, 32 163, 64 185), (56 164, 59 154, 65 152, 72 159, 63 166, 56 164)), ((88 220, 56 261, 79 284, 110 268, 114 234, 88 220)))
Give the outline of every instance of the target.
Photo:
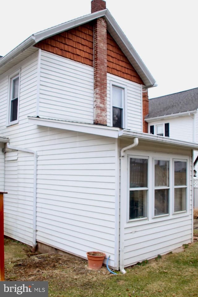
MULTIPOLYGON (((103 0, 91 2, 91 12, 106 8, 103 0)), ((94 24, 94 119, 96 125, 107 125, 107 33, 106 21, 95 20, 94 24)))

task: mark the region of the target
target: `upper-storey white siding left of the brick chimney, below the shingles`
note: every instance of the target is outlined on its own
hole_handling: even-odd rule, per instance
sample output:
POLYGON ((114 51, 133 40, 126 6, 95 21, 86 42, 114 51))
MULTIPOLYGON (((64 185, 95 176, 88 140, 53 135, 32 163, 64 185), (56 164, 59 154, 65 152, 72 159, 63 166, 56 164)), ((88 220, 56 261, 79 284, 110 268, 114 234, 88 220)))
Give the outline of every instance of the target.
POLYGON ((93 123, 93 67, 41 51, 39 116, 93 123))

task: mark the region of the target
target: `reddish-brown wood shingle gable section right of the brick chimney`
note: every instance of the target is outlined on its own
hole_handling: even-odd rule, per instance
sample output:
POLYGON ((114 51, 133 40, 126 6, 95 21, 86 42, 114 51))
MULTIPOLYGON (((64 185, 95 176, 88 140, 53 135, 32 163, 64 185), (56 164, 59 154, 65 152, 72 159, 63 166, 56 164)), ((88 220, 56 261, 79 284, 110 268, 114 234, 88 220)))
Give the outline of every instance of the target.
POLYGON ((107 32, 107 72, 138 84, 144 84, 109 32, 107 32))

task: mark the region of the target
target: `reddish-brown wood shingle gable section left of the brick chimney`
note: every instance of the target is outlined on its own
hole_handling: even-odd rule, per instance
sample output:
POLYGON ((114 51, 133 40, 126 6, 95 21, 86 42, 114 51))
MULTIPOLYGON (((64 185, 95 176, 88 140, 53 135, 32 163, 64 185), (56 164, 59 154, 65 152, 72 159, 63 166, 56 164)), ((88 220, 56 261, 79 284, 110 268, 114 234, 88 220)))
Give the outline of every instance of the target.
POLYGON ((93 66, 93 25, 84 24, 38 42, 36 47, 93 66))

